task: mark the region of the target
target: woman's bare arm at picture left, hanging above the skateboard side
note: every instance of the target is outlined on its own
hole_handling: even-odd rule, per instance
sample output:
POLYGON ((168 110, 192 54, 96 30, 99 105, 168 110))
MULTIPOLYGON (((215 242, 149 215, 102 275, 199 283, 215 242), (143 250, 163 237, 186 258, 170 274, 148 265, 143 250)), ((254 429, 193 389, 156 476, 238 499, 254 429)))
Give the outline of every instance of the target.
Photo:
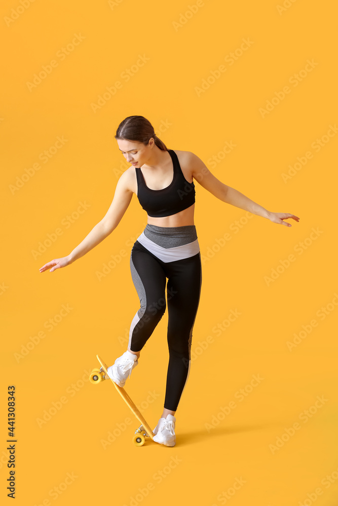
POLYGON ((53 272, 60 267, 72 264, 74 261, 78 260, 78 258, 83 257, 86 253, 88 253, 88 251, 93 249, 93 247, 97 246, 97 244, 103 241, 103 239, 116 229, 133 196, 133 192, 131 190, 131 177, 132 173, 128 170, 122 174, 118 184, 116 185, 114 198, 112 199, 105 216, 95 225, 84 240, 76 248, 74 248, 67 257, 51 260, 44 266, 40 267, 40 272, 44 272, 50 267, 52 267, 50 272, 53 272))

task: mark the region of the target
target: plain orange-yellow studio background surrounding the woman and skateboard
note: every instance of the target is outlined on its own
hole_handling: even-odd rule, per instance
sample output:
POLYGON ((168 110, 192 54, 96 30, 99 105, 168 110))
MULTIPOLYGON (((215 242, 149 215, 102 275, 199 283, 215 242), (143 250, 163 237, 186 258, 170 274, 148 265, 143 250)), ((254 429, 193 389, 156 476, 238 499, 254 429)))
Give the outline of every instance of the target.
MULTIPOLYGON (((2 3, 0 488, 8 503, 14 385, 16 504, 337 504, 336 16, 331 2, 284 4, 2 3), (129 255, 146 215, 137 198, 86 256, 39 272, 106 213, 129 166, 114 135, 134 114, 223 183, 301 218, 292 228, 247 218, 195 182, 203 281, 173 448, 135 447, 128 407, 108 382, 88 381, 97 353, 110 365, 125 351, 138 308, 129 255), (226 153, 226 143, 236 146, 226 153), (231 311, 240 315, 230 324, 231 311), (264 379, 250 388, 253 375, 264 379)), ((166 324, 167 314, 127 388, 152 427, 165 394, 166 324)))

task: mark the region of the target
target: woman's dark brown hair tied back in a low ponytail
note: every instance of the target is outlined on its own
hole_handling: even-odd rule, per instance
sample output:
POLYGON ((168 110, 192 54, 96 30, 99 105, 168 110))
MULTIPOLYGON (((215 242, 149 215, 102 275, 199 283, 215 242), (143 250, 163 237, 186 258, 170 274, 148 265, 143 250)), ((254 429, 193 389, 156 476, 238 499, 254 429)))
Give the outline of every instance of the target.
POLYGON ((142 142, 148 144, 149 139, 154 138, 157 147, 162 151, 168 151, 164 142, 157 137, 154 127, 150 121, 144 116, 128 116, 118 126, 115 139, 123 139, 126 141, 142 142))

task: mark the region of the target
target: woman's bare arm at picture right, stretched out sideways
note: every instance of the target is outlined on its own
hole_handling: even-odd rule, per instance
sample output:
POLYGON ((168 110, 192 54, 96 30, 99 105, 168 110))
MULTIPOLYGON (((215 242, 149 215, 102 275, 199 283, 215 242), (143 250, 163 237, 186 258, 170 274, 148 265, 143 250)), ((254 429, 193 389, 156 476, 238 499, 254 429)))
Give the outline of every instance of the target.
POLYGON ((235 190, 235 188, 224 185, 224 183, 219 181, 213 174, 211 174, 208 167, 197 155, 190 151, 187 153, 189 153, 187 162, 191 167, 191 174, 193 178, 196 179, 196 181, 198 181, 200 185, 203 186, 203 188, 208 190, 210 193, 212 193, 212 195, 219 198, 223 202, 227 202, 228 204, 234 205, 235 207, 240 207, 241 209, 249 211, 249 213, 267 218, 273 223, 285 225, 286 227, 291 227, 291 225, 290 223, 284 222, 283 220, 292 218, 296 222, 299 221, 299 218, 297 216, 291 215, 290 213, 272 213, 271 211, 268 211, 261 205, 243 195, 243 193, 235 190))

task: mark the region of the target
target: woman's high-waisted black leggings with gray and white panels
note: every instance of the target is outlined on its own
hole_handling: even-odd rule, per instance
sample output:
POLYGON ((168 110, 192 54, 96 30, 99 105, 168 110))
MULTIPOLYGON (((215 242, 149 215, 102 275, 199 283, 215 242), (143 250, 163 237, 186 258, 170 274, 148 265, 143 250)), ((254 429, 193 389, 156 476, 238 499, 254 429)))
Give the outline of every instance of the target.
POLYGON ((168 305, 169 364, 164 407, 176 411, 189 377, 192 332, 202 283, 195 226, 147 225, 133 245, 130 267, 140 309, 131 323, 129 347, 134 352, 143 348, 168 305), (191 256, 181 258, 186 255, 191 256))

